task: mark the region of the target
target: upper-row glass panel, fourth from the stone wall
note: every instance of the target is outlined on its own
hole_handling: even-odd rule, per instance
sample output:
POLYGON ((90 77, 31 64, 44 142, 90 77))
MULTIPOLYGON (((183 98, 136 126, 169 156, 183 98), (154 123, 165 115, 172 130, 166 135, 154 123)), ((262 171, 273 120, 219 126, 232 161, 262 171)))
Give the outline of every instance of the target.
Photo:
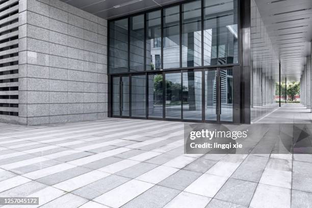
POLYGON ((164 9, 164 69, 180 67, 179 6, 164 9))

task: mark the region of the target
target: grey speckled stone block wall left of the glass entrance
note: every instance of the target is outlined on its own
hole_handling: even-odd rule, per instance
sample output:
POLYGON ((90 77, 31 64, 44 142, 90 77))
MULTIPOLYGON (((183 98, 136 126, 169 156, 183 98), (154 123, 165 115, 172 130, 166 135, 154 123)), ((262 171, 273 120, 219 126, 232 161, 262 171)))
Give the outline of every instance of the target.
POLYGON ((107 20, 58 0, 19 1, 19 123, 107 117, 107 20))

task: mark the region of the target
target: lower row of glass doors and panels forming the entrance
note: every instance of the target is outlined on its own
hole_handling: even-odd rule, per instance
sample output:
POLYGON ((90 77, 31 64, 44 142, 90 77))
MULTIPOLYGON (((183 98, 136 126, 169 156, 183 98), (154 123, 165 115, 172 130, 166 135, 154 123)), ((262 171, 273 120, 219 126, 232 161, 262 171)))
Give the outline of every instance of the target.
POLYGON ((233 121, 231 67, 115 75, 111 89, 113 117, 233 121))

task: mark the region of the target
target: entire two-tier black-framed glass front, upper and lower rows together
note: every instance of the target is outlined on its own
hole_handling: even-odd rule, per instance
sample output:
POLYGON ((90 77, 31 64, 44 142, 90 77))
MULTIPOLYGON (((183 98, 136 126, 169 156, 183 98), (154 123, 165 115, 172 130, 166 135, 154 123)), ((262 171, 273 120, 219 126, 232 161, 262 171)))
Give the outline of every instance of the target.
POLYGON ((194 0, 110 20, 112 115, 231 121, 232 70, 217 66, 238 64, 237 4, 194 0))

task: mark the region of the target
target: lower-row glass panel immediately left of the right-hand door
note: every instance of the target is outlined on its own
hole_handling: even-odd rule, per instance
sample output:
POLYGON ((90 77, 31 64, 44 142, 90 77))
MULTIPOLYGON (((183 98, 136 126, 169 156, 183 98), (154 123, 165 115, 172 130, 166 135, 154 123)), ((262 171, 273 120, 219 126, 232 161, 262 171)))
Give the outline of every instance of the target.
POLYGON ((183 119, 202 119, 201 77, 201 71, 183 73, 183 119))

